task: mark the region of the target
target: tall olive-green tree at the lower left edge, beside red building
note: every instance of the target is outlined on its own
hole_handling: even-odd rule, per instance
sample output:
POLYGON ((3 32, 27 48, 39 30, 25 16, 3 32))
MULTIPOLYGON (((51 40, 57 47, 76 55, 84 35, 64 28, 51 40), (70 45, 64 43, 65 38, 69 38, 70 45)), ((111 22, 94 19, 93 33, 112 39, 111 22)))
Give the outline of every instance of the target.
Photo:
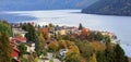
POLYGON ((9 41, 9 36, 5 33, 0 35, 0 62, 11 62, 12 48, 9 41))

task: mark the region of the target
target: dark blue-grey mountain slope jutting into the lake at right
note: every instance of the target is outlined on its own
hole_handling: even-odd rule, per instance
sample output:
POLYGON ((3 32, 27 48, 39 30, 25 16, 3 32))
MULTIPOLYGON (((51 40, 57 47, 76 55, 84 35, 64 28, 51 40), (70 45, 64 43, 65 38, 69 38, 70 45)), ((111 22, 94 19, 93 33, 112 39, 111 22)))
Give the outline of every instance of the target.
POLYGON ((83 13, 106 15, 131 15, 131 0, 99 0, 86 9, 83 13))

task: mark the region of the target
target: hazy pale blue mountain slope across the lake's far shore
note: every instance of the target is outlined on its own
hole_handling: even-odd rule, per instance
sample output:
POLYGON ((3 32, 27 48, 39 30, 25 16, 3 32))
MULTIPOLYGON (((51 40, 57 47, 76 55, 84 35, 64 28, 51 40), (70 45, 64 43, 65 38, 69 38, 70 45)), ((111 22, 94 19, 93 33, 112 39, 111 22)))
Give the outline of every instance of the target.
POLYGON ((97 0, 0 0, 0 11, 83 9, 97 0))

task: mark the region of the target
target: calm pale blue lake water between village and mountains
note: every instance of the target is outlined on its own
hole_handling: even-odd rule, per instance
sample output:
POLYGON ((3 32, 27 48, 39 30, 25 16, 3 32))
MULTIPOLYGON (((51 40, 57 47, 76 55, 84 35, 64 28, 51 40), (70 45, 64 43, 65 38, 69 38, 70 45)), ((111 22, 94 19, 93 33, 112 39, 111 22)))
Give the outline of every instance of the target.
POLYGON ((83 14, 81 10, 15 11, 1 12, 0 18, 9 22, 36 22, 40 25, 83 26, 94 30, 115 33, 121 40, 121 47, 131 57, 131 16, 83 14))

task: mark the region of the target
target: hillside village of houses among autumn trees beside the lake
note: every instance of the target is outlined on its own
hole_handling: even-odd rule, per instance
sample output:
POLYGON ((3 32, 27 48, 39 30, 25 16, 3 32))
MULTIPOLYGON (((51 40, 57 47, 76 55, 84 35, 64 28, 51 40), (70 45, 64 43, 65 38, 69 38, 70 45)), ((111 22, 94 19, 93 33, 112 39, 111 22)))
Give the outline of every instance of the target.
MULTIPOLYGON (((8 24, 3 21, 0 23, 8 24)), ((114 33, 91 30, 82 24, 79 27, 53 24, 39 26, 32 22, 10 23, 8 26, 11 26, 12 32, 9 42, 13 62, 99 62, 104 57, 108 57, 103 52, 114 55, 111 51, 120 44, 114 33), (112 44, 115 41, 116 44, 112 44)), ((1 25, 0 27, 7 28, 1 25)), ((4 29, 1 30, 3 32, 4 29)))

